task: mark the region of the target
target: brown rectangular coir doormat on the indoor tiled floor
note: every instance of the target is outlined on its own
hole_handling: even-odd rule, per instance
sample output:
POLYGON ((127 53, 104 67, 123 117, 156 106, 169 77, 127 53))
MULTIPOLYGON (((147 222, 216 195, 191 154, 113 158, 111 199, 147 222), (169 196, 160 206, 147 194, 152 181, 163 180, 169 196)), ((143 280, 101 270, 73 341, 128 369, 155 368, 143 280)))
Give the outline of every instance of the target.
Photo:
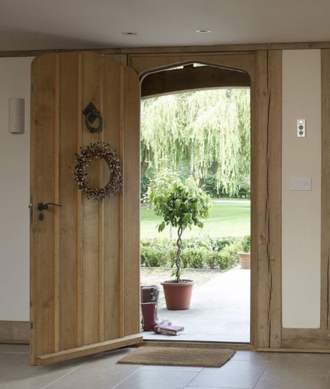
POLYGON ((220 367, 235 354, 228 349, 196 349, 188 347, 138 347, 118 363, 220 367))

